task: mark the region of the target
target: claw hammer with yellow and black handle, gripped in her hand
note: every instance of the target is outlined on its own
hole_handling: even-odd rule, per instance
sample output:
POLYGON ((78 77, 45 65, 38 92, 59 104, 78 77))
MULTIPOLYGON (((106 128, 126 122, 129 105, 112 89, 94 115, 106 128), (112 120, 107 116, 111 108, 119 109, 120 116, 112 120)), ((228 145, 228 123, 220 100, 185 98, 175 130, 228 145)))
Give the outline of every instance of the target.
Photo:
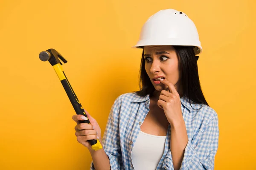
MULTIPOLYGON (((71 104, 73 105, 73 108, 76 111, 76 114, 81 114, 87 117, 84 108, 82 107, 81 103, 79 102, 73 88, 70 85, 70 82, 68 81, 66 75, 64 74, 64 71, 61 67, 62 63, 59 61, 58 58, 61 59, 64 63, 67 62, 64 57, 61 56, 55 49, 48 49, 47 51, 42 51, 39 54, 39 58, 42 61, 49 61, 50 64, 53 66, 56 74, 58 75, 58 78, 61 81, 61 84, 63 85, 68 98, 70 99, 71 104)), ((90 123, 89 119, 80 121, 81 123, 90 123)), ((102 148, 102 145, 100 144, 99 140, 89 140, 90 145, 92 146, 93 150, 99 150, 102 148)))

